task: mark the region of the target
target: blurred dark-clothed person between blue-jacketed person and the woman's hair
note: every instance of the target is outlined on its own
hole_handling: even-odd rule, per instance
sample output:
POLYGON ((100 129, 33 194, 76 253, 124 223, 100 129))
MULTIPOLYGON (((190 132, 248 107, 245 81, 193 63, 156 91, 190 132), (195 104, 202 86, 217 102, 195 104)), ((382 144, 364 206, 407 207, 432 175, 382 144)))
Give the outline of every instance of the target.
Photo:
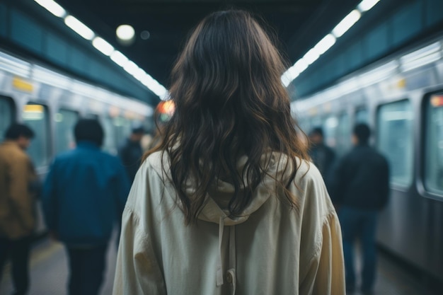
POLYGON ((118 156, 122 160, 123 166, 125 166, 130 183, 134 181, 135 174, 139 170, 140 161, 142 161, 143 149, 141 141, 143 135, 143 127, 133 128, 130 137, 118 150, 118 156))

